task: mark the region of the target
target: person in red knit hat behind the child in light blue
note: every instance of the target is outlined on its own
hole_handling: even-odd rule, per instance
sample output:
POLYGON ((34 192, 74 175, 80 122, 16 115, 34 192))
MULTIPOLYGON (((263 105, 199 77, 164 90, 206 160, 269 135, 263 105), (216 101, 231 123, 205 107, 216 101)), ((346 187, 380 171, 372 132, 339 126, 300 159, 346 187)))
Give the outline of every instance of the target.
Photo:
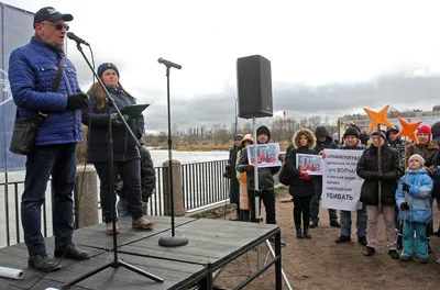
MULTIPOLYGON (((437 150, 439 146, 436 142, 431 141, 431 127, 428 125, 422 125, 417 130, 418 142, 407 146, 405 163, 408 164, 409 156, 414 154, 419 154, 425 159, 424 168, 427 170, 428 175, 432 178, 433 171, 436 169, 436 158, 437 150)), ((432 207, 432 202, 431 202, 432 207)), ((431 245, 429 243, 432 228, 432 222, 427 224, 427 238, 428 238, 428 253, 431 253, 431 245)))

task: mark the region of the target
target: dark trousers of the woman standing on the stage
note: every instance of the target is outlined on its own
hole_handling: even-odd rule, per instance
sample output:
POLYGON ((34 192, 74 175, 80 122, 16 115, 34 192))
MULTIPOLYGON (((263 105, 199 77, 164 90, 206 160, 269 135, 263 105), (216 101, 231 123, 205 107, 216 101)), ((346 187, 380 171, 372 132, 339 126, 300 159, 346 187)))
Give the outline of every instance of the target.
MULTIPOLYGON (((95 163, 100 180, 100 199, 102 215, 106 223, 113 221, 111 211, 116 211, 117 194, 114 190, 110 192, 110 174, 109 163, 95 163), (113 204, 111 204, 111 196, 113 194, 113 204)), ((133 220, 142 217, 142 192, 141 192, 141 161, 133 159, 129 161, 121 161, 113 164, 113 180, 121 175, 123 188, 127 193, 127 201, 129 203, 129 213, 133 220)), ((117 216, 114 216, 117 220, 117 216)))

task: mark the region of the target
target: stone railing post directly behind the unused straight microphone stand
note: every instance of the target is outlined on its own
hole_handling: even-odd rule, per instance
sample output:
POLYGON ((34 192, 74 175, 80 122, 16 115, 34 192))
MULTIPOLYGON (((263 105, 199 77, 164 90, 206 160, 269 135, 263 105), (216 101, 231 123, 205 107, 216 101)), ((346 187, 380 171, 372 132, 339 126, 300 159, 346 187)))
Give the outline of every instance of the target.
MULTIPOLYGON (((169 194, 169 171, 168 165, 169 161, 164 161, 164 213, 165 215, 170 215, 170 194, 169 194)), ((173 196, 174 196, 174 215, 183 216, 186 214, 184 207, 184 194, 182 190, 182 169, 179 160, 172 160, 172 170, 173 170, 173 196)))

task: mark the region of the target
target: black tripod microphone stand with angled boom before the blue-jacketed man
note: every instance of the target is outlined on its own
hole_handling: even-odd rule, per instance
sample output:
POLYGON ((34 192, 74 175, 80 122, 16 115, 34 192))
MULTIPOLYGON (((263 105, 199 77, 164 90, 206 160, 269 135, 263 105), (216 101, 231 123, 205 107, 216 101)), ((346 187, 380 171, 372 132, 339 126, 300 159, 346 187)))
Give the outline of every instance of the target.
POLYGON ((124 126, 129 131, 130 136, 134 140, 136 146, 140 147, 141 145, 140 145, 136 136, 131 131, 131 129, 130 129, 129 124, 127 123, 125 119, 122 116, 122 114, 119 111, 118 107, 114 104, 114 100, 110 96, 110 93, 107 90, 106 86, 103 85, 102 80, 99 78, 99 76, 95 71, 94 67, 90 65, 89 60, 87 59, 87 56, 84 54, 82 47, 80 46, 80 43, 77 43, 77 48, 81 53, 81 55, 82 55, 84 59, 86 60, 87 65, 89 66, 90 70, 94 72, 94 75, 97 78, 99 85, 101 86, 101 88, 106 92, 106 96, 107 96, 106 101, 107 101, 107 104, 109 105, 109 111, 108 111, 108 122, 109 122, 109 127, 108 127, 108 131, 109 131, 108 132, 108 134, 109 134, 108 135, 109 136, 109 143, 108 143, 108 146, 109 146, 109 148, 108 149, 109 149, 109 175, 110 175, 110 182, 109 183, 110 183, 111 216, 112 216, 112 220, 113 220, 113 222, 112 222, 112 225, 113 225, 113 260, 108 263, 108 264, 106 264, 106 265, 103 265, 103 266, 101 266, 101 267, 99 267, 99 268, 97 268, 97 269, 95 269, 95 270, 91 270, 91 271, 89 271, 89 272, 87 272, 87 274, 85 274, 85 275, 82 275, 82 276, 80 276, 80 277, 78 277, 78 278, 76 278, 76 279, 74 279, 72 281, 66 282, 65 285, 62 286, 61 289, 63 289, 63 290, 64 289, 69 289, 72 286, 74 286, 74 285, 76 285, 76 283, 78 283, 78 282, 80 282, 80 281, 82 281, 82 280, 85 280, 85 279, 87 279, 87 278, 100 272, 100 271, 103 271, 107 268, 111 267, 111 268, 117 269, 120 266, 122 266, 122 267, 124 267, 124 268, 127 268, 127 269, 129 269, 131 271, 134 271, 134 272, 136 272, 139 275, 142 275, 142 276, 144 276, 146 278, 150 278, 150 279, 152 279, 152 280, 154 280, 156 282, 164 282, 164 279, 162 279, 161 277, 157 277, 157 276, 155 276, 153 274, 144 271, 144 270, 142 270, 142 269, 138 268, 138 267, 134 267, 134 266, 123 261, 122 259, 118 258, 118 242, 117 242, 117 233, 114 231, 116 225, 117 225, 116 224, 117 214, 116 214, 116 200, 114 200, 113 136, 112 136, 110 108, 114 108, 114 110, 117 111, 119 118, 122 120, 124 126))

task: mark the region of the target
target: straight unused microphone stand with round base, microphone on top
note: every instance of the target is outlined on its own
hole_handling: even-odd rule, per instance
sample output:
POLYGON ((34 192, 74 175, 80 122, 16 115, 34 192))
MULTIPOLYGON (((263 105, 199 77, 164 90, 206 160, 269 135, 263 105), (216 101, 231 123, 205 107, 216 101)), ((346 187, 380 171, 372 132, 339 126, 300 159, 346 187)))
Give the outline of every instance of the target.
MULTIPOLYGON (((166 100, 167 100, 167 109, 168 109, 168 193, 169 193, 169 203, 170 203, 170 214, 172 214, 172 235, 163 236, 158 239, 158 245, 164 247, 178 247, 188 244, 188 238, 184 235, 176 235, 175 232, 175 223, 174 223, 174 185, 173 185, 173 138, 172 138, 172 113, 169 107, 169 68, 173 67, 169 62, 162 63, 162 58, 158 59, 161 64, 166 66, 166 100)), ((175 65, 175 64, 173 64, 175 65)), ((177 69, 180 69, 180 66, 174 66, 177 69)))

